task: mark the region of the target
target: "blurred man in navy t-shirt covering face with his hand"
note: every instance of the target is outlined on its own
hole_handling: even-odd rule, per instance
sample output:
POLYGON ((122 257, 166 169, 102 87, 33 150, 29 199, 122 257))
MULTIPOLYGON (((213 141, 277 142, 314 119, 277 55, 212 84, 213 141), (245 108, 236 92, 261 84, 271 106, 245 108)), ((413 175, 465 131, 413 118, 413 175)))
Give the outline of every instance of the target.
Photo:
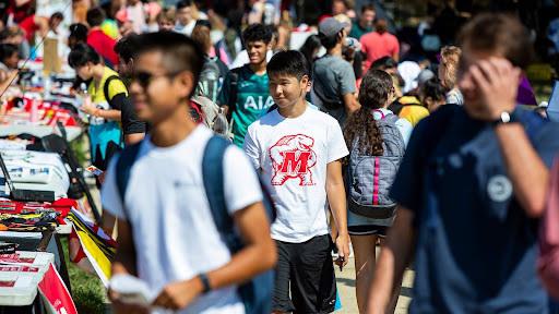
POLYGON ((412 313, 549 312, 536 274, 537 227, 559 125, 516 106, 532 51, 518 20, 481 14, 460 38, 465 102, 440 107, 409 140, 368 313, 384 313, 412 259, 412 313))

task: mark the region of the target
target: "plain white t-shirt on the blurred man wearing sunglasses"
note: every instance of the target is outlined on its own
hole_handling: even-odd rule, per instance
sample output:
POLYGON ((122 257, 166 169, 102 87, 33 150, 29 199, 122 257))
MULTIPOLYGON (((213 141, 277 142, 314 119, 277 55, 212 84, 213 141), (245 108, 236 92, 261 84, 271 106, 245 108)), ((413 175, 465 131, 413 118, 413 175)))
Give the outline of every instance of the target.
MULTIPOLYGON (((138 275, 158 294, 165 285, 219 268, 230 254, 213 222, 202 181, 203 148, 212 136, 198 126, 173 147, 141 144, 130 171, 122 209, 115 160, 103 185, 103 206, 132 226, 138 275)), ((225 201, 229 213, 262 200, 258 177, 247 156, 233 145, 224 160, 225 201)), ((236 287, 212 291, 176 313, 245 313, 236 287)))

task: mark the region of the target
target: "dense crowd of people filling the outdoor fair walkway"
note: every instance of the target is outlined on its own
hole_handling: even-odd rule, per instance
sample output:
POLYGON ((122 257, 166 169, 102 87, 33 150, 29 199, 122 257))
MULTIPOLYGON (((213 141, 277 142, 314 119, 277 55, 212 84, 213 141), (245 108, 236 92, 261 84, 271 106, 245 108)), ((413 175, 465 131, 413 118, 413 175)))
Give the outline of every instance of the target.
POLYGON ((344 0, 298 26, 278 1, 82 0, 68 29, 29 2, 4 12, 0 86, 68 39, 112 275, 155 293, 109 287, 117 313, 331 313, 352 254, 359 313, 394 312, 407 267, 411 312, 558 311, 536 266, 559 126, 520 106, 534 49, 515 17, 435 44, 421 24, 418 56, 344 0))

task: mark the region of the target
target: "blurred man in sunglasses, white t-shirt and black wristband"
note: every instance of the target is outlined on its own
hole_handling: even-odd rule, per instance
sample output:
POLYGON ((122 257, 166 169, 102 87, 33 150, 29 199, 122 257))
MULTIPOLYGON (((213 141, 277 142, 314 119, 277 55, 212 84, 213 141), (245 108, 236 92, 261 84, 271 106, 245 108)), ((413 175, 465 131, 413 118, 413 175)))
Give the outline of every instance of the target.
MULTIPOLYGON (((225 203, 246 244, 231 256, 203 185, 203 152, 213 133, 187 118, 203 53, 176 33, 144 34, 139 43, 131 95, 139 118, 152 129, 139 146, 123 197, 116 160, 103 186, 104 208, 119 218, 112 274, 144 280, 157 295, 150 310, 245 313, 236 285, 276 261, 258 177, 242 150, 233 145, 226 149, 225 203)), ((118 291, 109 294, 117 313, 148 311, 124 305, 118 291)))

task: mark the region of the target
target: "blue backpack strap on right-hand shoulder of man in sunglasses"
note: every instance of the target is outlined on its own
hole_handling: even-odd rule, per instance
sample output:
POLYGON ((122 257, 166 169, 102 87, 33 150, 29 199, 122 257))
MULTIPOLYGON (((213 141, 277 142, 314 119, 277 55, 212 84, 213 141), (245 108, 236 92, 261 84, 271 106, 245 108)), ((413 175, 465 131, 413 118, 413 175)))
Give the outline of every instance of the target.
POLYGON ((210 204, 210 210, 217 231, 230 252, 235 252, 236 234, 233 219, 227 212, 225 203, 224 157, 229 142, 222 136, 214 135, 207 142, 202 158, 202 178, 204 190, 210 204))

